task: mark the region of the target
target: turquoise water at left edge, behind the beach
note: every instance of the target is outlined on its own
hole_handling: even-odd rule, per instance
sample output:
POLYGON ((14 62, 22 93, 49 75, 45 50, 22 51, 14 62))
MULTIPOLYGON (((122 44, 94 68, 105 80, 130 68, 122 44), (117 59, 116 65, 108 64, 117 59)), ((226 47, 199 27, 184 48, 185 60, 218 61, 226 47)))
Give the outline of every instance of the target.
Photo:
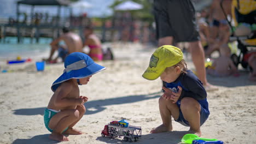
POLYGON ((30 38, 24 38, 22 44, 17 44, 16 37, 7 37, 5 43, 3 43, 3 40, 0 43, 0 58, 10 59, 17 56, 28 58, 43 55, 43 53, 50 51, 50 43, 51 39, 40 38, 38 44, 36 44, 35 39, 33 44, 30 44, 30 38))

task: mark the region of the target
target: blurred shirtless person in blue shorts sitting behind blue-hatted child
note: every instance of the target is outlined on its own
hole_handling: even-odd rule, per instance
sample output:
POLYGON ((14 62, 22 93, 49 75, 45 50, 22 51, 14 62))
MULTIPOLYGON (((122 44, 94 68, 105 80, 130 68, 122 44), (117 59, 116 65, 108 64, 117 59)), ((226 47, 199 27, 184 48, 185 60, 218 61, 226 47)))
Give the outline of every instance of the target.
POLYGON ((59 57, 61 57, 62 62, 64 62, 66 56, 70 53, 83 52, 83 41, 78 34, 70 32, 68 27, 63 27, 62 32, 63 34, 59 38, 51 42, 50 56, 48 59, 44 59, 46 62, 56 63, 57 58, 59 57), (65 46, 59 45, 62 40, 65 42, 65 46), (59 54, 53 59, 53 55, 56 50, 59 52, 59 54))

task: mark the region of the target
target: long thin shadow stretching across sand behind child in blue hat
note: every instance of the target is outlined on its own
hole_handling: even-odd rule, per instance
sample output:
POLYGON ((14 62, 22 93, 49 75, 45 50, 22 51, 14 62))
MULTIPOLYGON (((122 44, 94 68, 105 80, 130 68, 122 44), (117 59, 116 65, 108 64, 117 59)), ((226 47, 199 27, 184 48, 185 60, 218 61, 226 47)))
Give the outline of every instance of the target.
MULTIPOLYGON (((101 112, 106 109, 104 106, 108 105, 119 105, 119 104, 127 104, 127 103, 135 103, 137 101, 142 100, 148 100, 148 99, 154 99, 160 97, 160 92, 147 94, 147 95, 129 95, 127 97, 119 97, 119 98, 110 98, 110 99, 104 99, 104 100, 92 100, 85 103, 86 107, 86 113, 85 115, 92 115, 97 112, 101 112), (90 109, 93 108, 94 111, 90 111, 90 109)), ((44 109, 46 107, 38 107, 33 109, 18 109, 13 110, 15 115, 44 115, 44 109)))

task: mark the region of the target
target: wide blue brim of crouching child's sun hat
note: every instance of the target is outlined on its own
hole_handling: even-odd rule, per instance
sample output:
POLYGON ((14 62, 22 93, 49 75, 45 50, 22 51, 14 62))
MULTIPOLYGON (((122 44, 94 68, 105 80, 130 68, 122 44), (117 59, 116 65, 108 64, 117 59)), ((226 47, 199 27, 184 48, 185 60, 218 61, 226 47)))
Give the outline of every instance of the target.
POLYGON ((51 90, 53 92, 61 85, 62 82, 70 80, 70 79, 82 79, 93 74, 96 74, 102 70, 106 69, 105 67, 97 64, 92 63, 87 67, 78 70, 71 70, 69 72, 64 72, 56 81, 54 81, 53 85, 51 86, 51 90))

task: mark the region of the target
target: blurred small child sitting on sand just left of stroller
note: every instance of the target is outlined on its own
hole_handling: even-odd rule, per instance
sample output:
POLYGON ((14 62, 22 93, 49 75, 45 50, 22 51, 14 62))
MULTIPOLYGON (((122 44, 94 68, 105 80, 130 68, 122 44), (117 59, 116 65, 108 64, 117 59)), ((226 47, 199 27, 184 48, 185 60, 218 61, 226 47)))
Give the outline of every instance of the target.
POLYGON ((214 59, 212 67, 207 68, 207 74, 213 76, 238 76, 238 71, 231 58, 231 50, 227 44, 220 47, 220 56, 214 59))

